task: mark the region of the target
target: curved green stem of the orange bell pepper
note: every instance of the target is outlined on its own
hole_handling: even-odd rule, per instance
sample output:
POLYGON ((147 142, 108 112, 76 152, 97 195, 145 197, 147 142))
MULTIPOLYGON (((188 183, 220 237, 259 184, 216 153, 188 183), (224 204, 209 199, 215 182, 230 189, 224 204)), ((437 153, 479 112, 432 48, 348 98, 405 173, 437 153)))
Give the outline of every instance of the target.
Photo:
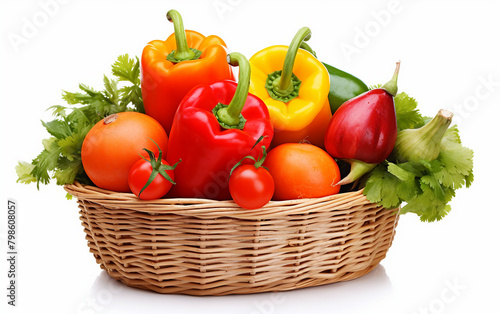
POLYGON ((182 16, 176 10, 167 12, 167 19, 174 23, 175 43, 177 50, 172 50, 167 56, 167 60, 178 63, 186 60, 195 60, 201 56, 201 51, 189 48, 186 39, 186 31, 184 30, 184 23, 182 16))

